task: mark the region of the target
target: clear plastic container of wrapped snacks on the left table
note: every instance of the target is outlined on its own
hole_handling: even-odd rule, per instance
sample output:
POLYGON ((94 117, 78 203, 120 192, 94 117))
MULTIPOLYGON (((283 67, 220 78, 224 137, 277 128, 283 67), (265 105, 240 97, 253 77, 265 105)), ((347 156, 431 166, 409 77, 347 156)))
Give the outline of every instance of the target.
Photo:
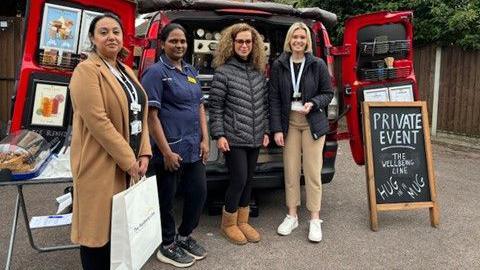
POLYGON ((0 141, 0 169, 12 172, 13 180, 38 176, 51 157, 50 144, 38 133, 19 130, 0 141))

